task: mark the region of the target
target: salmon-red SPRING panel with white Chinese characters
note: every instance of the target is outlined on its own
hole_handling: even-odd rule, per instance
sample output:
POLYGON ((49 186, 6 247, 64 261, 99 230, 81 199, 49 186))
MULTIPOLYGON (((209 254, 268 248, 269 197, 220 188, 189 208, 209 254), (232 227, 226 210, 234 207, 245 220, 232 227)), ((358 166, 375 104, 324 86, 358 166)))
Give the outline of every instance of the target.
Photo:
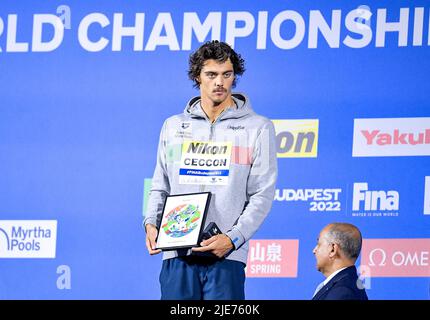
POLYGON ((297 277, 298 240, 251 240, 247 277, 297 277))

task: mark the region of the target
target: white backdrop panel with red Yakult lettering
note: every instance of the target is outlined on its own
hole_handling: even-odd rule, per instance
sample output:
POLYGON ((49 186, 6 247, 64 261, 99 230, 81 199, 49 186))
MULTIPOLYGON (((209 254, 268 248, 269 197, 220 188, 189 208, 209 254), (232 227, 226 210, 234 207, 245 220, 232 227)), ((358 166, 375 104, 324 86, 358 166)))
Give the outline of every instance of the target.
POLYGON ((430 155, 430 118, 354 119, 353 157, 430 155))

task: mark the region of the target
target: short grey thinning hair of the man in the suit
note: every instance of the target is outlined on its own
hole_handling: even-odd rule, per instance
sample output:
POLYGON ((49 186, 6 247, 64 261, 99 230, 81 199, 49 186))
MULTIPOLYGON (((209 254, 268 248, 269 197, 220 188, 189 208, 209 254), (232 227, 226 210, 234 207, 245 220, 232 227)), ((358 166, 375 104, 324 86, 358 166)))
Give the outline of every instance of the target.
POLYGON ((326 234, 331 242, 340 247, 348 259, 357 260, 361 251, 362 236, 356 226, 350 223, 331 223, 326 234))

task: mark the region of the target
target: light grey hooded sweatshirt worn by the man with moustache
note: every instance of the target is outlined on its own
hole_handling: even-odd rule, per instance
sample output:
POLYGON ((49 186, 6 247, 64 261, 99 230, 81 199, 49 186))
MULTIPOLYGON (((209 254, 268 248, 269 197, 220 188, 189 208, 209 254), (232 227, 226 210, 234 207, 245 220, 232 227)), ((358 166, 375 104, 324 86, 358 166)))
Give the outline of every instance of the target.
MULTIPOLYGON (((157 164, 144 225, 157 225, 166 195, 210 191, 206 225, 214 221, 232 240, 226 259, 247 263, 248 240, 263 223, 272 206, 277 178, 275 130, 272 122, 256 114, 249 99, 233 93, 235 106, 211 123, 200 97, 191 99, 183 114, 168 118, 160 133, 157 164), (180 184, 179 169, 184 141, 232 142, 227 185, 180 184)), ((165 251, 163 259, 191 254, 165 251)))

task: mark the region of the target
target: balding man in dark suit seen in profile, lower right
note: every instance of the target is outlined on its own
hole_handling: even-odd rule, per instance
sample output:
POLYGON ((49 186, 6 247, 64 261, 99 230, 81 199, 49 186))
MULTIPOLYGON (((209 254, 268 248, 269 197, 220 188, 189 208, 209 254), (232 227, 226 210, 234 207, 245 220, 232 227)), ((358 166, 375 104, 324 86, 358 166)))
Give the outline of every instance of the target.
POLYGON ((361 233, 349 223, 331 223, 321 230, 313 253, 326 279, 312 300, 367 300, 355 261, 361 251, 361 233))

